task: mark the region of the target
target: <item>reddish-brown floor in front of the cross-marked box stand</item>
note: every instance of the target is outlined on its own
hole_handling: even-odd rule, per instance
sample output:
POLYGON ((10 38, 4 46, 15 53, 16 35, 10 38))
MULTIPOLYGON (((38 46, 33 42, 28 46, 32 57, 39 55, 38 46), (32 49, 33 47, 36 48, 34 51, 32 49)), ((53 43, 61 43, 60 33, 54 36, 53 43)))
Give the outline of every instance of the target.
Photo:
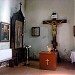
POLYGON ((75 75, 75 64, 69 62, 61 62, 57 65, 57 69, 41 70, 39 61, 30 61, 30 66, 15 66, 14 68, 0 68, 0 75, 75 75))

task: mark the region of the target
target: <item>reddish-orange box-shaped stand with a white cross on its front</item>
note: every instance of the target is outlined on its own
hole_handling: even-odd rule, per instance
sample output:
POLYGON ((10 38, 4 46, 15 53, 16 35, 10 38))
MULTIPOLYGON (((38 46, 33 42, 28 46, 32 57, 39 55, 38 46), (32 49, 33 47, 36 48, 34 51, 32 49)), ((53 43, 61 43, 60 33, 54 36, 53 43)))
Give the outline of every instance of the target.
POLYGON ((56 70, 57 52, 42 51, 40 53, 40 68, 46 70, 56 70))

